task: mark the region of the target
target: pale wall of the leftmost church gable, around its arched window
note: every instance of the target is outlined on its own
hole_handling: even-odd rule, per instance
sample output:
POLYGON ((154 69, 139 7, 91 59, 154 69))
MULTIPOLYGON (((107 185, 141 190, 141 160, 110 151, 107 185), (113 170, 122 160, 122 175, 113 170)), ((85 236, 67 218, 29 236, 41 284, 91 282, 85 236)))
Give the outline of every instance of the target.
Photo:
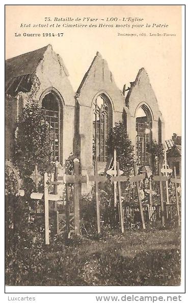
POLYGON ((68 79, 68 72, 59 55, 48 46, 43 60, 37 66, 34 74, 32 89, 29 93, 23 93, 24 104, 28 100, 39 101, 40 105, 44 92, 58 91, 63 99, 63 163, 73 151, 74 137, 74 91, 68 79))

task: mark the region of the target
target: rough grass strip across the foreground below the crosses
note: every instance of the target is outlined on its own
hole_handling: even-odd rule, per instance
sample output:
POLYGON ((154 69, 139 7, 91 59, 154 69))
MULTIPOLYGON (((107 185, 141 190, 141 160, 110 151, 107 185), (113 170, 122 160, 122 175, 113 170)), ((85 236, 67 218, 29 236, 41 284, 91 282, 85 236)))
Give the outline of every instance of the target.
POLYGON ((35 244, 6 256, 6 285, 180 285, 180 231, 107 231, 35 244))

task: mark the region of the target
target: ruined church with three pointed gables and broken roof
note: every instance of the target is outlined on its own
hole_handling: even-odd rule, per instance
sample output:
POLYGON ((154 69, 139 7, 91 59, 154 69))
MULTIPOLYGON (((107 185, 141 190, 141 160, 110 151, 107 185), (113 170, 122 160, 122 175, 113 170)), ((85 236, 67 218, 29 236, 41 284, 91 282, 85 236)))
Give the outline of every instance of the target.
POLYGON ((73 152, 80 159, 82 174, 94 171, 94 160, 105 169, 108 132, 115 122, 123 121, 138 165, 150 165, 147 146, 154 139, 164 143, 164 121, 145 69, 121 92, 97 52, 76 93, 68 76, 51 45, 6 60, 6 159, 11 159, 22 107, 28 100, 37 100, 55 134, 54 161, 64 163, 73 152))

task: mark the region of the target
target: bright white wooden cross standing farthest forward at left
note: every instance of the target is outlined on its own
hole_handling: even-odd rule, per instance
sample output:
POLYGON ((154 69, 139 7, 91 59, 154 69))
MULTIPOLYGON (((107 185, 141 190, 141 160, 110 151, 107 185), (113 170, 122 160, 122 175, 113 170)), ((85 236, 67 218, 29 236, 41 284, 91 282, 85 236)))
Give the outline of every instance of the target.
POLYGON ((49 201, 60 200, 59 194, 50 194, 48 192, 48 175, 44 174, 44 192, 32 192, 31 199, 41 200, 44 196, 44 215, 45 215, 45 244, 49 245, 49 201))

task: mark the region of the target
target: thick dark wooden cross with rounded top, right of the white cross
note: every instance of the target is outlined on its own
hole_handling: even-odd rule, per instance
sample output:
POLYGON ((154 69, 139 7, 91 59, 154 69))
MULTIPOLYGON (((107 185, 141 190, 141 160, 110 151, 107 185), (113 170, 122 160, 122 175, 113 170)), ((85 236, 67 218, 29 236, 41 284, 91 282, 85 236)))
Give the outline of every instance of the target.
POLYGON ((74 228, 75 234, 80 234, 80 215, 79 215, 79 184, 80 183, 87 183, 88 178, 87 176, 79 175, 79 160, 74 159, 74 175, 66 175, 64 174, 63 177, 57 177, 58 181, 52 181, 51 184, 53 185, 60 185, 63 183, 73 183, 74 184, 74 228), (62 182, 61 182, 62 181, 62 182))

